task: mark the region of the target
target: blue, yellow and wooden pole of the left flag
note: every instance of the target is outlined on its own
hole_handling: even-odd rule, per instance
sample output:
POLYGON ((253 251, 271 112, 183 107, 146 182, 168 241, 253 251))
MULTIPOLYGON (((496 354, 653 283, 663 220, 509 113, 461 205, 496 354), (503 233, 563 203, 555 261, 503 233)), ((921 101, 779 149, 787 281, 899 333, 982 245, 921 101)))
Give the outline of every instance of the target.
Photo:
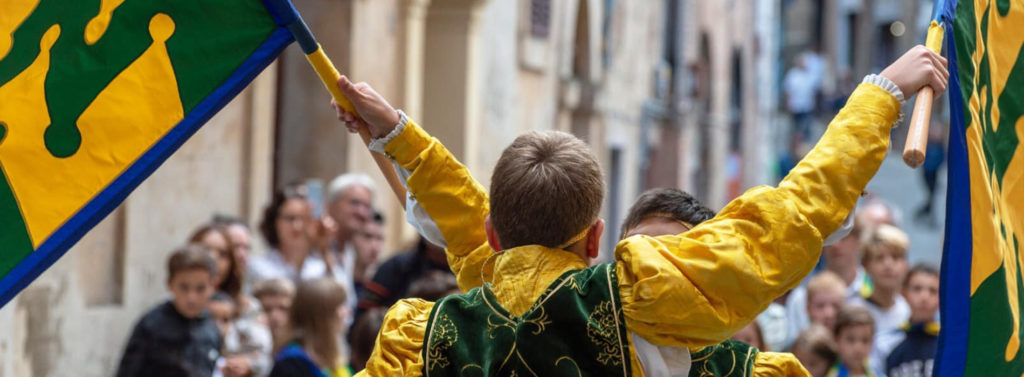
MULTIPOLYGON (((306 59, 309 60, 309 65, 313 67, 313 71, 316 71, 316 75, 319 76, 321 81, 324 82, 324 86, 327 90, 331 92, 331 96, 334 100, 338 102, 345 111, 356 114, 355 108, 352 107, 352 102, 341 93, 341 89, 338 88, 338 79, 341 78, 341 74, 335 69, 334 64, 331 62, 331 58, 327 57, 324 53, 324 48, 321 47, 319 43, 316 42, 316 38, 313 37, 312 32, 309 31, 309 27, 306 23, 302 20, 302 16, 299 15, 298 10, 292 6, 290 0, 264 0, 263 3, 273 10, 279 16, 278 22, 284 25, 290 32, 292 36, 295 37, 295 41, 299 43, 299 47, 302 48, 302 52, 306 54, 306 59)), ((362 137, 362 142, 370 146, 370 130, 367 127, 359 127, 359 136, 362 137)), ((373 156, 374 162, 377 163, 377 167, 381 169, 381 173, 384 174, 384 178, 387 179, 387 183, 391 186, 391 191, 394 195, 398 197, 398 203, 402 207, 406 206, 406 186, 401 184, 401 180, 398 178, 398 174, 395 173, 394 167, 391 165, 391 161, 381 154, 374 153, 370 151, 370 155, 373 156)))

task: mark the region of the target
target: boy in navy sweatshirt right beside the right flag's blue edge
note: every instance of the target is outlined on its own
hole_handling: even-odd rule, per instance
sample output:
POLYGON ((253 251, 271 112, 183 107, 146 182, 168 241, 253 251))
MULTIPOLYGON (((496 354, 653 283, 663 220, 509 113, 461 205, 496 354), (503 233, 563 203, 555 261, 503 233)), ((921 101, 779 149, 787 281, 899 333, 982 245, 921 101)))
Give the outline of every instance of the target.
POLYGON ((910 305, 905 337, 886 361, 889 377, 931 377, 939 343, 939 270, 928 264, 910 268, 903 281, 903 296, 910 305))

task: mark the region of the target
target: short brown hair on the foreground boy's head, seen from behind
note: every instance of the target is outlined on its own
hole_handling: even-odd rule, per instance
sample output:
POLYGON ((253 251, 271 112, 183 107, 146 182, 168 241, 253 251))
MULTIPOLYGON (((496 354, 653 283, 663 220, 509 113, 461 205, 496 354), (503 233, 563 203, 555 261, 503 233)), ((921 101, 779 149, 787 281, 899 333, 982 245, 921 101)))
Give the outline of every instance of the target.
POLYGON ((505 149, 490 177, 490 221, 504 249, 564 247, 604 199, 597 159, 565 132, 530 132, 505 149))

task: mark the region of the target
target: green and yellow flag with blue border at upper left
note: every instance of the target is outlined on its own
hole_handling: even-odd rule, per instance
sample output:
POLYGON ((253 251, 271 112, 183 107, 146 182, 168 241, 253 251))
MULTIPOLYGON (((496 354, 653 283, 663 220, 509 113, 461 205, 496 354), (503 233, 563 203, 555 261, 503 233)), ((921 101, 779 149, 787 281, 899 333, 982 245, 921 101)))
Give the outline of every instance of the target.
POLYGON ((268 8, 0 1, 0 306, 293 41, 268 8))

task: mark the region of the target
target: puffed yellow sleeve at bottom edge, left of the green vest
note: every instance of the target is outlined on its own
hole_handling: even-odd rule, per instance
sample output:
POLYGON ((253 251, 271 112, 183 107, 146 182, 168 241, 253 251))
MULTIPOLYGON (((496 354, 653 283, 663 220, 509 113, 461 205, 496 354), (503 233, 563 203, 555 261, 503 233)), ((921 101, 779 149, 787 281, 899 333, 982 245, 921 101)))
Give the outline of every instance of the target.
POLYGON ((384 316, 367 369, 355 376, 421 376, 423 338, 433 307, 433 302, 418 298, 395 302, 384 316))

